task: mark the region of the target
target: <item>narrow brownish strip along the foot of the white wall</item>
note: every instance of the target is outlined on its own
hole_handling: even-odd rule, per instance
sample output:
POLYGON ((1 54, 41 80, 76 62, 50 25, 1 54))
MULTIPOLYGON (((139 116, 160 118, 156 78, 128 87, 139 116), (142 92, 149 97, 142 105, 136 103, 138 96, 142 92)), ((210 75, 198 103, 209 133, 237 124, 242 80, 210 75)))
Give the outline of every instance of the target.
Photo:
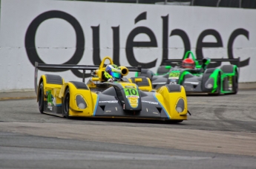
MULTIPOLYGON (((255 83, 239 83, 239 89, 256 89, 255 83)), ((0 92, 0 100, 36 99, 36 92, 33 89, 21 91, 0 92)))

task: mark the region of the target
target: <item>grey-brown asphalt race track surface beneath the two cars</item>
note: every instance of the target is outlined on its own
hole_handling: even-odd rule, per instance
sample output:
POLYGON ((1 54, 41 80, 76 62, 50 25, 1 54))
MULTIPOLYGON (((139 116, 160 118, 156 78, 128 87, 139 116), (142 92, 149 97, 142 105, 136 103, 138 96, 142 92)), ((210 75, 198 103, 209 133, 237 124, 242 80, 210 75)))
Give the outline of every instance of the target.
POLYGON ((67 120, 35 99, 0 107, 0 168, 256 168, 255 89, 188 96, 180 124, 67 120))

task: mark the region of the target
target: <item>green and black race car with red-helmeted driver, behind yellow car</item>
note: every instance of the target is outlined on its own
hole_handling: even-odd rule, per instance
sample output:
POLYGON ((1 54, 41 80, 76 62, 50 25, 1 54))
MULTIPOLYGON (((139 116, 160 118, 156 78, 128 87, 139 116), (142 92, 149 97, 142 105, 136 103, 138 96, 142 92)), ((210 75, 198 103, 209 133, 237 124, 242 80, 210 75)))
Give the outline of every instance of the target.
POLYGON ((158 89, 165 84, 180 84, 184 86, 187 94, 237 94, 239 63, 240 58, 203 58, 203 60, 199 61, 195 58, 193 52, 188 51, 183 60, 165 60, 165 64, 169 66, 160 66, 156 74, 149 69, 142 69, 142 72, 138 73, 137 76, 150 78, 154 89, 158 89), (191 58, 189 58, 190 55, 191 58), (188 62, 185 63, 185 61, 188 62), (224 61, 230 61, 236 64, 212 67, 214 65, 212 62, 224 61), (176 66, 174 66, 174 63, 176 63, 176 66))

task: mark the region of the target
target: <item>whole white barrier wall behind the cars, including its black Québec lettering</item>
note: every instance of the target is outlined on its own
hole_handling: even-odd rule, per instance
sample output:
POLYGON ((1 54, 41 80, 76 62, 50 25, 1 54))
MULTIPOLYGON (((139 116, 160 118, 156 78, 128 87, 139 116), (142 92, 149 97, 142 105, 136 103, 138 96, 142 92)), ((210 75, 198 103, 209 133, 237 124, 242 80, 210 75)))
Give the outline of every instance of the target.
POLYGON ((108 55, 156 71, 188 49, 197 58, 240 57, 240 82, 255 82, 255 21, 256 10, 223 7, 1 0, 0 92, 33 89, 35 61, 98 65, 108 55))

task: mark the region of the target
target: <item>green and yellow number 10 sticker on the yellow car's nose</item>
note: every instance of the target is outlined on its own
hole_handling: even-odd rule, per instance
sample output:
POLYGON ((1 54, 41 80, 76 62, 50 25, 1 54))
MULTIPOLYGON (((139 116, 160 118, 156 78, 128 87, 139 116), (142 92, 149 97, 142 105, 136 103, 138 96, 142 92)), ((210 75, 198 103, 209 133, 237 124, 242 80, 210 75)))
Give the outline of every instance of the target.
POLYGON ((125 97, 127 98, 132 108, 137 108, 139 103, 139 92, 138 89, 125 88, 125 97))

